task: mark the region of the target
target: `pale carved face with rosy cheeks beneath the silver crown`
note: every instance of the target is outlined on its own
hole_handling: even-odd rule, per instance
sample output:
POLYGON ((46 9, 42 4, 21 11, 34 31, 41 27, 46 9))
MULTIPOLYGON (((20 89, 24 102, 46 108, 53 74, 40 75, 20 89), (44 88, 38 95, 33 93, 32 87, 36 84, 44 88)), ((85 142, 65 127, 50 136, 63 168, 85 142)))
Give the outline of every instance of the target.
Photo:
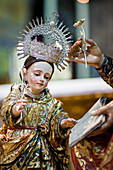
POLYGON ((30 91, 34 95, 40 94, 51 78, 52 67, 46 62, 35 62, 27 70, 25 75, 30 91))

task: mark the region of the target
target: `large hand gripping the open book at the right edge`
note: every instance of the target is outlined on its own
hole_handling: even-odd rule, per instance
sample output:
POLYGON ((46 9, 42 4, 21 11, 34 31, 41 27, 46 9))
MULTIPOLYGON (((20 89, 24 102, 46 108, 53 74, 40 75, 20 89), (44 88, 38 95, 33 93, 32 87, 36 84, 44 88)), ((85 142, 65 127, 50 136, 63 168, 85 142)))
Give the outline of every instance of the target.
POLYGON ((107 120, 98 130, 93 131, 90 136, 102 134, 107 131, 111 126, 113 126, 113 100, 105 106, 99 108, 98 110, 91 112, 91 115, 93 116, 97 116, 100 114, 106 114, 107 120))

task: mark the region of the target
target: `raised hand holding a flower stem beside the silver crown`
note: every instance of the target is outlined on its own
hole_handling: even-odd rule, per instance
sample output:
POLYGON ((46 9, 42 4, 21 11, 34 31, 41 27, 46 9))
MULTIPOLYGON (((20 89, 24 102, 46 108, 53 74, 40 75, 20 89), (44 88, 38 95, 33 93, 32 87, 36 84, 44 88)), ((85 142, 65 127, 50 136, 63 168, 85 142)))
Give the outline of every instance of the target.
MULTIPOLYGON (((96 68, 99 68, 103 62, 104 55, 92 39, 86 38, 85 41, 88 43, 86 45, 87 64, 94 65, 96 68)), ((68 52, 68 57, 71 61, 85 64, 84 51, 82 48, 83 45, 82 38, 78 38, 68 52)))

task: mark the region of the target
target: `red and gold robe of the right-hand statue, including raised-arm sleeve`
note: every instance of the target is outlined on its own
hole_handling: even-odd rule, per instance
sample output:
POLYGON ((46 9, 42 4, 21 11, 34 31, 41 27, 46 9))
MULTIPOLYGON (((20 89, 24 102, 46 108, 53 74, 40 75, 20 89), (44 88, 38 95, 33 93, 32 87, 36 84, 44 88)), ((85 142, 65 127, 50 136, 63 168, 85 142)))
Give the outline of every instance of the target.
MULTIPOLYGON (((113 87, 113 59, 105 56, 97 71, 113 87)), ((113 126, 101 135, 80 141, 71 149, 71 155, 75 170, 112 170, 113 126)))

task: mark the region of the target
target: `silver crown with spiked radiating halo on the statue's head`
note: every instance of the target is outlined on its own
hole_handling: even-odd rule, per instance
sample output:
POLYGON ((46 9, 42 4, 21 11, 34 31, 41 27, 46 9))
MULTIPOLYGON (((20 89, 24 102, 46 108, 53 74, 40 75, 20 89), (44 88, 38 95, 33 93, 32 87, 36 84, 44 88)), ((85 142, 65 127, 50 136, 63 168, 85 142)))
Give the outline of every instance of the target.
POLYGON ((68 44, 72 42, 72 37, 68 28, 65 28, 63 22, 58 25, 58 21, 55 22, 55 18, 58 17, 57 12, 53 13, 54 20, 46 20, 43 23, 41 18, 41 24, 39 24, 39 19, 36 18, 36 22, 32 20, 33 23, 29 22, 29 26, 23 29, 23 36, 18 37, 20 40, 17 45, 17 54, 19 59, 25 56, 33 56, 39 59, 43 59, 52 63, 55 63, 57 68, 61 71, 65 69, 67 63, 70 60, 67 57, 69 50, 68 44), (43 42, 37 41, 37 36, 47 37, 51 43, 44 44, 43 42), (35 39, 33 39, 35 37, 35 39))

